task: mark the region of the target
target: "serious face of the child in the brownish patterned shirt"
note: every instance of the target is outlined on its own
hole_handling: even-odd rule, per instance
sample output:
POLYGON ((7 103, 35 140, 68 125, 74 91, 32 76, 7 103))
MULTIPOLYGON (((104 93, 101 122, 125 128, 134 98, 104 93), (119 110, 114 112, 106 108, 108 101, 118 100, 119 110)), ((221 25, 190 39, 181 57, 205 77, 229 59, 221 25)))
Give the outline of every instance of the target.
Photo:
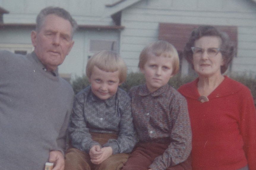
POLYGON ((146 85, 153 92, 166 85, 173 76, 173 59, 163 56, 147 56, 147 61, 140 71, 145 75, 146 85))

